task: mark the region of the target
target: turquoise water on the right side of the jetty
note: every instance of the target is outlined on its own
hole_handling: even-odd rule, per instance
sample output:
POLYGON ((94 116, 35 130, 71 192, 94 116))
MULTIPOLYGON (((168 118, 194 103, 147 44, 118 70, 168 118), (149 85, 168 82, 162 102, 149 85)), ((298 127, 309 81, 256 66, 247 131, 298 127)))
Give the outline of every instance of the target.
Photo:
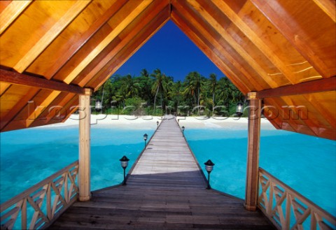
MULTIPOLYGON (((185 136, 203 170, 208 159, 215 163, 211 187, 244 199, 247 131, 186 129, 185 136)), ((260 167, 336 215, 336 141, 261 131, 260 167)))

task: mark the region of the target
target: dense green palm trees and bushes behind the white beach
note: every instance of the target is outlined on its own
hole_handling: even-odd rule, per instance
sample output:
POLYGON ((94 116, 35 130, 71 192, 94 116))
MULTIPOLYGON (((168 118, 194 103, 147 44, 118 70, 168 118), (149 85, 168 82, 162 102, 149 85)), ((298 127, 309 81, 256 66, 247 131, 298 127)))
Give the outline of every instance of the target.
POLYGON ((92 98, 102 101, 107 114, 228 117, 235 114, 244 94, 228 78, 218 80, 214 73, 205 78, 190 72, 183 82, 174 82, 160 69, 153 73, 143 69, 140 76, 112 76, 92 98))

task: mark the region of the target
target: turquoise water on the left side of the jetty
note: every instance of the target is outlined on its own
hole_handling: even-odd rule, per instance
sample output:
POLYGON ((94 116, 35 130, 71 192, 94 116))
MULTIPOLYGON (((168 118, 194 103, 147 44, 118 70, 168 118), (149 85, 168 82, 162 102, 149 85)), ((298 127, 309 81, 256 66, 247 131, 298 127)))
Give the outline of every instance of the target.
MULTIPOLYGON (((154 129, 91 129, 91 189, 123 182, 119 159, 130 159, 126 172, 144 148, 143 135, 154 129)), ((78 159, 78 126, 33 128, 0 134, 0 203, 78 159)))

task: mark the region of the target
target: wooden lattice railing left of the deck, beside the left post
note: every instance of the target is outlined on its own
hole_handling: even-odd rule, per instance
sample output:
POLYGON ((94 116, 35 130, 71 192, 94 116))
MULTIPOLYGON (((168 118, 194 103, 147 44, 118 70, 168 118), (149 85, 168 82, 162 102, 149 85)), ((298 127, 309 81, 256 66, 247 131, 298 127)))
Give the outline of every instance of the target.
POLYGON ((1 204, 1 229, 44 229, 76 201, 78 161, 1 204))

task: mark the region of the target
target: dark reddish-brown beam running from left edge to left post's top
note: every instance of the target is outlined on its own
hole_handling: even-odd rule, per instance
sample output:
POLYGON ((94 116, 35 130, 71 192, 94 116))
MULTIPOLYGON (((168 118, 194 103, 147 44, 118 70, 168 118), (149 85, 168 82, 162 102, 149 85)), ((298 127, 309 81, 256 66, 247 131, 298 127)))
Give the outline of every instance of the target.
POLYGON ((38 87, 41 89, 51 89, 61 92, 71 92, 74 94, 84 94, 84 89, 76 85, 66 85, 62 82, 57 82, 54 80, 46 80, 43 78, 36 78, 22 73, 6 71, 4 69, 0 69, 0 81, 16 85, 27 85, 31 87, 38 87))

